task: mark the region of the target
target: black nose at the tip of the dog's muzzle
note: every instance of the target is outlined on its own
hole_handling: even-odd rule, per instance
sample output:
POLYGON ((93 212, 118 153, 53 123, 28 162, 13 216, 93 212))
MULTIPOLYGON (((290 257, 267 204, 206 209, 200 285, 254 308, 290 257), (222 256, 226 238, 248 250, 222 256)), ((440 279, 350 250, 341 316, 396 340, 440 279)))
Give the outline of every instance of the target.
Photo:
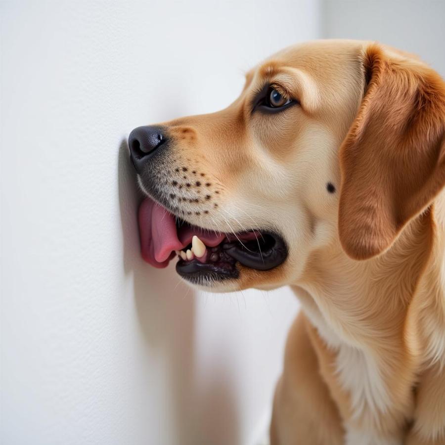
POLYGON ((134 168, 138 173, 165 141, 162 127, 137 127, 130 133, 128 145, 134 168))

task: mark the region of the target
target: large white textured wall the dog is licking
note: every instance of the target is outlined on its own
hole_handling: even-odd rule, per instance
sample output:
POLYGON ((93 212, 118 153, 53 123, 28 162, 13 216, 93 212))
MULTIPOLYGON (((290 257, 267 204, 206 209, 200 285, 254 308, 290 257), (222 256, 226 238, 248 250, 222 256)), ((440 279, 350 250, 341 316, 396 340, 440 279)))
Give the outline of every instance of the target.
POLYGON ((125 143, 230 103, 318 36, 311 0, 1 2, 1 429, 7 445, 246 444, 297 311, 194 294, 139 257, 125 143))

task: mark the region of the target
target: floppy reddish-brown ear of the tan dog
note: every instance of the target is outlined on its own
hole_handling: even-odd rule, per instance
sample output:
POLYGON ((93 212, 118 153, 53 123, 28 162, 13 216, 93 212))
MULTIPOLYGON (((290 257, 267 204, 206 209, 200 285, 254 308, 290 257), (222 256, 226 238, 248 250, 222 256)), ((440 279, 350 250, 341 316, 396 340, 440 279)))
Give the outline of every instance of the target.
POLYGON ((363 54, 365 93, 339 157, 339 235, 364 260, 387 250, 445 185, 445 84, 378 45, 363 54))

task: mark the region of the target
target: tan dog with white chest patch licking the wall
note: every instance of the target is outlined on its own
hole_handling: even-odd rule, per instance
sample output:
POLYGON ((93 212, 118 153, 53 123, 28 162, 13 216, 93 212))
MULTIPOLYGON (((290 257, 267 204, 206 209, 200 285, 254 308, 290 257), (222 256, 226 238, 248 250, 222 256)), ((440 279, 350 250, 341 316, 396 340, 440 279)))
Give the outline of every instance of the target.
POLYGON ((292 46, 213 114, 136 128, 143 258, 302 310, 272 445, 445 444, 445 83, 375 42, 292 46))

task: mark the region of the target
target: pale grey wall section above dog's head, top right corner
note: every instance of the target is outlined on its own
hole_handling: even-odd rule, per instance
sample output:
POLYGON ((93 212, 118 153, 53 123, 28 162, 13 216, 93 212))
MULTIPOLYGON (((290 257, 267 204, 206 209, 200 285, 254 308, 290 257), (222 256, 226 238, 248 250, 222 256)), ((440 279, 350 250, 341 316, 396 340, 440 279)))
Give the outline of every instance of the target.
POLYGON ((444 0, 323 0, 320 10, 325 38, 392 45, 445 77, 444 0))

